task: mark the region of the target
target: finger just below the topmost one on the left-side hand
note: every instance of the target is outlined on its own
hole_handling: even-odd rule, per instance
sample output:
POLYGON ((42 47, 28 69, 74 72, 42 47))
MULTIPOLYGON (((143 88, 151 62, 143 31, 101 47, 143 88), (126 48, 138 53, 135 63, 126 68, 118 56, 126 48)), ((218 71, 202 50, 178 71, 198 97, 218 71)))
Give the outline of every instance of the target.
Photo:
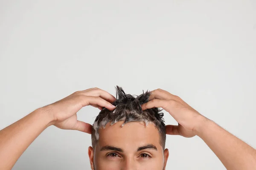
POLYGON ((105 107, 108 110, 113 110, 116 108, 116 106, 112 105, 110 102, 102 99, 101 97, 96 97, 96 96, 84 96, 84 95, 79 95, 78 96, 81 105, 82 106, 87 106, 87 105, 99 105, 101 107, 105 107))

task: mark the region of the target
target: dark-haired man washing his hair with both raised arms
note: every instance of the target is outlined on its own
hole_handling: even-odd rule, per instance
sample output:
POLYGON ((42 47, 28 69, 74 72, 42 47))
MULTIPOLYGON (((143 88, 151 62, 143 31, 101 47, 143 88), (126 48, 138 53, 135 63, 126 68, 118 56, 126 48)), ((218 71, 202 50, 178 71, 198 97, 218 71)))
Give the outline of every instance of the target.
POLYGON ((99 88, 77 91, 4 128, 0 131, 0 169, 11 169, 29 144, 44 129, 55 125, 93 133, 93 147, 89 147, 88 154, 94 170, 163 170, 169 153, 164 148, 163 115, 158 108, 169 112, 178 122, 178 125, 167 125, 166 134, 199 136, 228 170, 256 169, 255 149, 199 114, 178 96, 161 89, 146 92, 138 99, 119 87, 117 93, 116 100, 99 88), (77 120, 76 112, 87 105, 102 110, 94 127, 77 120))

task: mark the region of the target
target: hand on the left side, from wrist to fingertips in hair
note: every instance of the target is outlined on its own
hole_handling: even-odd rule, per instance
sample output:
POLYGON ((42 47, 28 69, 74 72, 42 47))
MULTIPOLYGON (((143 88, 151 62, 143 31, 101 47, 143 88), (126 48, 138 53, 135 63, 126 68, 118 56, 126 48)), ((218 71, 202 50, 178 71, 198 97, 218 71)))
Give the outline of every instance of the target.
POLYGON ((52 116, 51 125, 61 129, 79 130, 91 134, 92 125, 77 120, 76 113, 87 105, 100 110, 105 107, 112 111, 115 106, 111 103, 115 100, 116 98, 106 91, 99 88, 90 88, 84 91, 76 91, 70 96, 46 105, 41 109, 52 116))

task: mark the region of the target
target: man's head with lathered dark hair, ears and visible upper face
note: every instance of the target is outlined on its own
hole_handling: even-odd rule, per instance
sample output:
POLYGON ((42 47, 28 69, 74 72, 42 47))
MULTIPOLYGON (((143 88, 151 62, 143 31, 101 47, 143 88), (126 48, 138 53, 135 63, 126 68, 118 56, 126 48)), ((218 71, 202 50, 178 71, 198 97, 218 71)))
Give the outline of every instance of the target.
POLYGON ((142 111, 149 96, 149 91, 135 97, 116 87, 115 110, 103 108, 93 123, 92 169, 164 169, 169 152, 163 113, 159 108, 142 111))

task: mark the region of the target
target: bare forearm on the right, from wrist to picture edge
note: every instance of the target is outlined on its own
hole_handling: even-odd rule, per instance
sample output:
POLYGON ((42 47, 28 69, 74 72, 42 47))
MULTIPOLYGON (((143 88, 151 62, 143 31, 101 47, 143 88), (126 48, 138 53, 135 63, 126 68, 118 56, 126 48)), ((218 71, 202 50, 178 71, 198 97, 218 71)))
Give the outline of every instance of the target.
POLYGON ((201 121, 197 135, 218 156, 227 170, 252 170, 256 167, 256 150, 209 119, 201 121))

